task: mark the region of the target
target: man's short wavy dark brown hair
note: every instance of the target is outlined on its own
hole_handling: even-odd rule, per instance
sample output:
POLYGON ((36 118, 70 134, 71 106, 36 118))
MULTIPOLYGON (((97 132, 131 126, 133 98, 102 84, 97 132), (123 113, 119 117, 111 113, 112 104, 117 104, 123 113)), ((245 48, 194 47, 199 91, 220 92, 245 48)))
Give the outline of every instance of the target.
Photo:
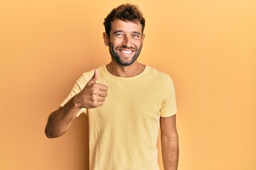
POLYGON ((139 22, 142 24, 142 33, 145 27, 145 18, 142 15, 142 12, 139 10, 139 6, 135 6, 132 4, 122 4, 117 8, 113 8, 112 11, 105 18, 104 26, 105 32, 107 36, 110 37, 111 23, 115 19, 119 19, 122 21, 132 21, 139 22))

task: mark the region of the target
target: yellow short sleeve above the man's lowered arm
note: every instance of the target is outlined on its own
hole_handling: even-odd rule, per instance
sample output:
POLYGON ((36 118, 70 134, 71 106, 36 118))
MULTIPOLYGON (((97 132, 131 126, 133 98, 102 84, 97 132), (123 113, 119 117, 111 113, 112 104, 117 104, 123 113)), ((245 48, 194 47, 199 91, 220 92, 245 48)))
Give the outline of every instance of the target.
POLYGON ((171 77, 168 76, 166 80, 166 94, 160 110, 160 116, 169 117, 171 115, 175 115, 176 113, 177 108, 174 83, 171 80, 171 77))

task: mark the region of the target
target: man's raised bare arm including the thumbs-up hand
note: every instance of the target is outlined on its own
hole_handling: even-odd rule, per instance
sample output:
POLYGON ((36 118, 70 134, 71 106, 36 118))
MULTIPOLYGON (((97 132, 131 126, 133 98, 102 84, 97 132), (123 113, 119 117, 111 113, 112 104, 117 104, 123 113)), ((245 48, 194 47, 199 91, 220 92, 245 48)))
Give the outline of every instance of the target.
POLYGON ((60 137, 65 134, 81 108, 102 106, 105 97, 107 97, 107 86, 97 84, 98 77, 99 73, 95 69, 95 74, 87 82, 85 88, 73 96, 63 107, 58 108, 58 110, 49 115, 45 129, 48 138, 60 137))

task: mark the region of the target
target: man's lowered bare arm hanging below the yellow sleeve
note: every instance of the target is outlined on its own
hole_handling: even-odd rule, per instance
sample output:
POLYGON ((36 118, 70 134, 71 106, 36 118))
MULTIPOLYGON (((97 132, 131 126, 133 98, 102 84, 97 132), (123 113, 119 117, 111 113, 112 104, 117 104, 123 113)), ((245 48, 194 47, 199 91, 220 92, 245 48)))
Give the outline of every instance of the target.
POLYGON ((164 170, 178 169, 178 133, 176 130, 176 115, 160 118, 161 149, 164 170))

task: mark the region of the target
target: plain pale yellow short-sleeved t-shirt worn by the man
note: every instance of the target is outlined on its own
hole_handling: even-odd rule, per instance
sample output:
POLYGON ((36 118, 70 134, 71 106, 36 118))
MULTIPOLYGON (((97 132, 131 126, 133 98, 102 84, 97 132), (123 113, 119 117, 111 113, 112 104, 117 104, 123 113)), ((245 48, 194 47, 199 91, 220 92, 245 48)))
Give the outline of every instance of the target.
MULTIPOLYGON (((146 66, 135 77, 114 77, 100 67, 97 83, 108 86, 103 106, 81 109, 90 125, 91 170, 156 170, 159 118, 176 114, 176 98, 171 78, 146 66)), ((75 83, 64 106, 92 78, 85 72, 75 83)))

